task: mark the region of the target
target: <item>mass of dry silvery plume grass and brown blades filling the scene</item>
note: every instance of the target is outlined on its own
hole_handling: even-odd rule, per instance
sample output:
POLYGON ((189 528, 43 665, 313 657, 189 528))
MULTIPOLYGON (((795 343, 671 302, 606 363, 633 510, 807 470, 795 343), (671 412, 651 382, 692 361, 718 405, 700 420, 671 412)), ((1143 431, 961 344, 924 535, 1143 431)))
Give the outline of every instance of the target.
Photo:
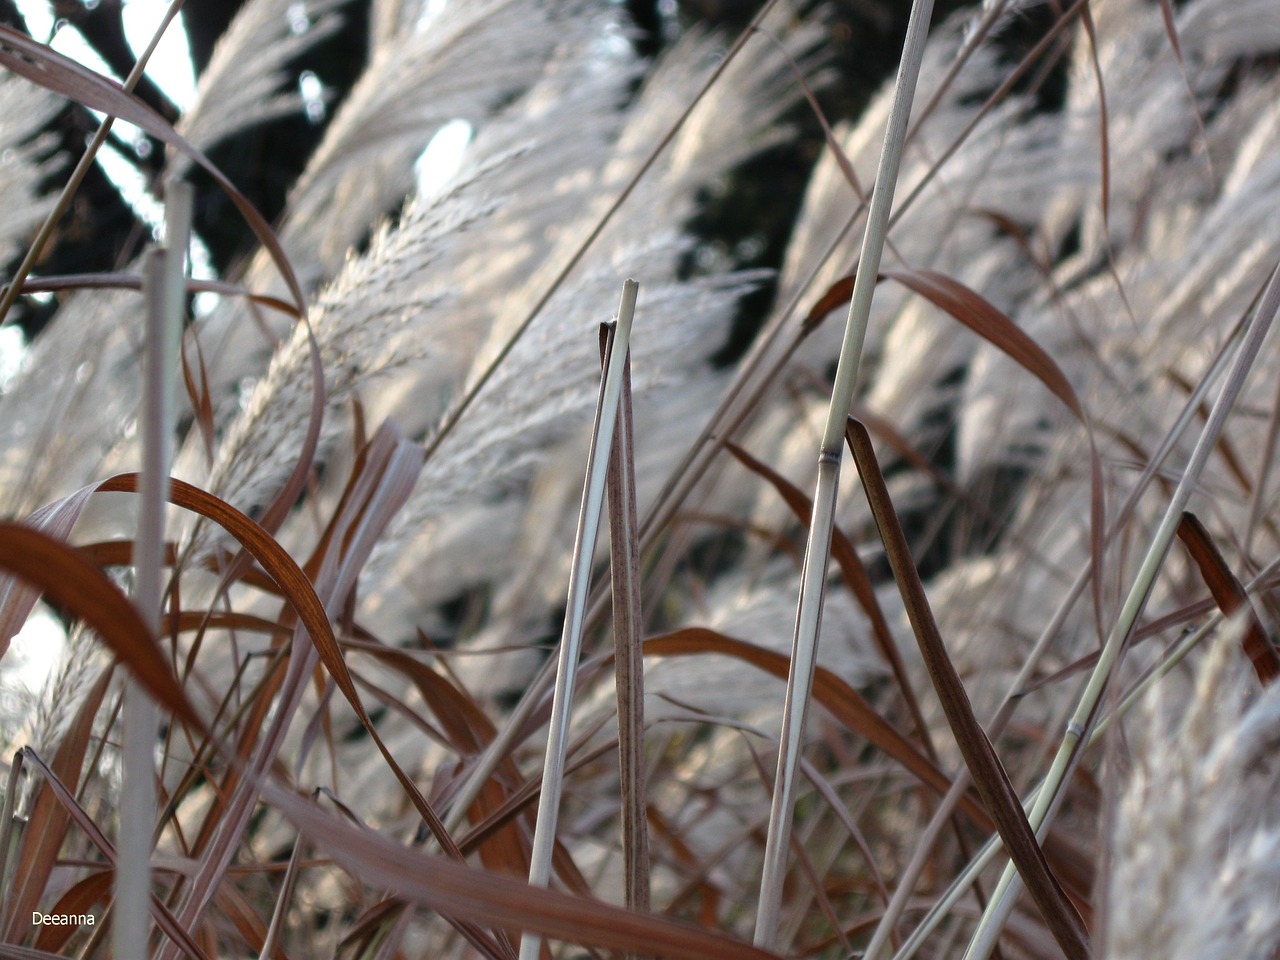
MULTIPOLYGON (((613 5, 436 8, 370 5, 175 406, 138 401, 180 257, 26 280, 59 308, 0 394, 0 567, 69 634, 20 689, 36 593, 4 588, 0 957, 1275 956, 1274 0, 933 23, 901 161, 904 81, 831 132, 727 365, 767 278, 687 224, 829 81, 822 12, 645 64, 613 5), (456 118, 458 173, 416 186, 456 118), (813 497, 859 256, 865 429, 813 497)), ((174 125, 0 35, 0 253, 70 173, 59 97, 187 174, 300 109, 285 67, 344 10, 297 14, 250 0, 174 125)))

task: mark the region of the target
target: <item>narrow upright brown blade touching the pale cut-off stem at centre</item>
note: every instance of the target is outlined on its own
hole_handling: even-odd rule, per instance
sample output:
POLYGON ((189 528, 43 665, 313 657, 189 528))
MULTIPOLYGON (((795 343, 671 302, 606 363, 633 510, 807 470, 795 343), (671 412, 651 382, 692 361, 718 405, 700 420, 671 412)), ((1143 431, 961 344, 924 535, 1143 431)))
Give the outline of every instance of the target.
POLYGON ((649 824, 644 763, 644 617, 640 608, 639 516, 631 419, 631 357, 622 367, 622 401, 607 477, 609 571, 613 577, 614 676, 618 692, 618 771, 622 859, 628 910, 649 911, 649 824))

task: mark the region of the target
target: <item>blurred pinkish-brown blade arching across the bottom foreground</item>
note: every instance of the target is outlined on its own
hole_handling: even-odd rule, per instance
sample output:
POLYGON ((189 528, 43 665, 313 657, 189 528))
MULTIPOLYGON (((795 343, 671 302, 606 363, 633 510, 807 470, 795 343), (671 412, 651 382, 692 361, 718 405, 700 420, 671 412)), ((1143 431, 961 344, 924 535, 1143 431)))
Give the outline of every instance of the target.
POLYGON ((672 960, 767 960, 776 956, 676 920, 484 874, 351 827, 292 794, 271 787, 269 795, 285 817, 352 874, 440 913, 511 932, 531 931, 570 943, 672 960))

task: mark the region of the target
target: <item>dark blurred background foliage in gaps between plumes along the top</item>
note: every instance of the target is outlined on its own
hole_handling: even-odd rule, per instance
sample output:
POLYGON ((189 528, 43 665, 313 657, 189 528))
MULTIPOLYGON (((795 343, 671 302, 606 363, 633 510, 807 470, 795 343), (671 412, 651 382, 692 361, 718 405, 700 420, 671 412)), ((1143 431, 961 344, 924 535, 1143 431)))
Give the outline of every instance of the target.
MULTIPOLYGON (((189 0, 183 6, 182 26, 197 76, 241 5, 237 0, 189 0)), ((746 27, 759 6, 737 0, 625 0, 622 5, 634 24, 630 42, 649 63, 687 31, 718 31, 727 45, 746 27)), ((943 0, 938 4, 936 19, 964 5, 964 0, 943 0)), ((122 22, 122 0, 54 0, 50 6, 56 18, 74 26, 84 36, 118 76, 128 73, 133 52, 122 22)), ((284 209, 288 191, 319 143, 324 124, 364 70, 369 50, 367 8, 367 0, 347 3, 342 12, 342 28, 289 64, 294 82, 307 73, 320 81, 326 97, 323 114, 293 114, 259 124, 211 151, 214 163, 269 219, 276 218, 284 209)), ((856 116, 872 91, 892 73, 909 10, 909 0, 835 0, 822 4, 820 22, 828 31, 827 56, 833 81, 814 92, 832 125, 856 116)), ((26 28, 13 0, 0 0, 0 17, 10 26, 26 28)), ((49 37, 37 40, 46 41, 49 37)), ((1010 41, 1016 44, 1016 37, 1010 37, 1010 41)), ((143 78, 137 95, 166 118, 177 118, 177 108, 150 79, 143 78)), ((792 138, 754 156, 704 197, 703 210, 690 224, 694 234, 703 241, 690 259, 690 273, 726 266, 776 268, 781 262, 801 195, 823 145, 820 123, 806 104, 795 108, 788 119, 795 133, 792 138)), ((96 124, 83 108, 68 104, 52 122, 56 148, 64 156, 79 156, 96 124)), ((163 160, 160 145, 124 142, 118 134, 113 137, 120 152, 154 182, 163 160)), ((64 177, 65 168, 52 173, 49 188, 58 189, 64 177)), ((212 265, 224 274, 251 251, 253 241, 225 195, 210 188, 204 174, 193 173, 192 177, 198 197, 196 232, 207 246, 212 265)), ((95 166, 73 209, 61 221, 55 242, 45 252, 38 273, 119 269, 137 255, 147 238, 146 225, 138 221, 101 168, 95 166)), ((6 271, 12 269, 13 265, 6 265, 6 271)), ((722 357, 726 362, 745 347, 772 293, 772 287, 765 284, 745 300, 735 334, 722 357)), ((55 306, 24 300, 18 306, 17 320, 29 337, 47 321, 55 306)))

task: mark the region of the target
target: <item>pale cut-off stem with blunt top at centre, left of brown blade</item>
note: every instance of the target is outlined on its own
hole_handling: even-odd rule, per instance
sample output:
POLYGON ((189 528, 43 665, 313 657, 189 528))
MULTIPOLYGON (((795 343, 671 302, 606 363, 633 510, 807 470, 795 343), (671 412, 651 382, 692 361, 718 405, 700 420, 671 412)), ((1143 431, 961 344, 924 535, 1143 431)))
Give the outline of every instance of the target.
MULTIPOLYGON (((631 323, 635 319, 639 289, 635 280, 626 280, 622 284, 622 301, 618 305, 617 325, 609 344, 608 366, 600 380, 600 398, 595 410, 595 425, 591 430, 586 483, 582 488, 577 536, 573 541, 564 630, 556 664, 556 692, 552 695, 552 716, 547 731, 543 792, 538 803, 538 826, 534 828, 534 849, 529 867, 529 883, 536 887, 545 887, 550 879, 552 855, 556 849, 556 823, 559 815, 559 799, 564 777, 564 748, 568 739, 573 686, 577 677, 577 660, 582 649, 586 598, 591 579, 591 556, 600 525, 607 465, 613 447, 618 407, 622 401, 622 369, 630 349, 631 323)), ((540 943, 541 940, 536 934, 526 936, 520 945, 520 960, 538 960, 540 943)))

